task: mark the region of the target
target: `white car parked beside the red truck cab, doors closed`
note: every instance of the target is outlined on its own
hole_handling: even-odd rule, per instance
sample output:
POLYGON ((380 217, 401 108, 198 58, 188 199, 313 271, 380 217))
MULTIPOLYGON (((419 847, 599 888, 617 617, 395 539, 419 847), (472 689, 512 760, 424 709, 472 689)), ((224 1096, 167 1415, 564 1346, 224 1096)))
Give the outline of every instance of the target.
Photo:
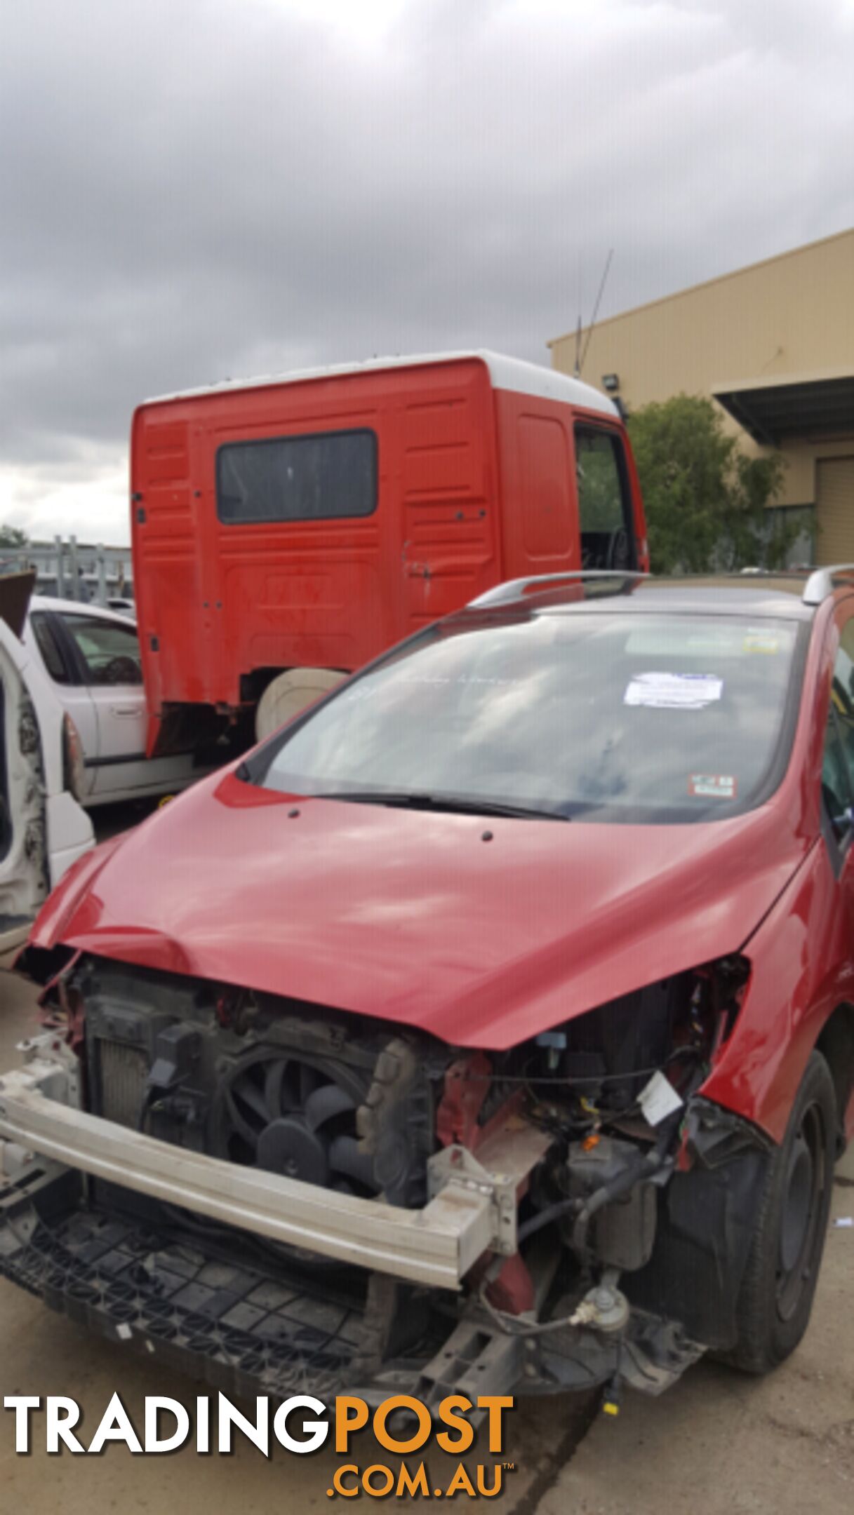
POLYGON ((127 614, 33 595, 24 645, 80 735, 86 807, 171 794, 202 776, 190 753, 146 758, 140 642, 127 614))

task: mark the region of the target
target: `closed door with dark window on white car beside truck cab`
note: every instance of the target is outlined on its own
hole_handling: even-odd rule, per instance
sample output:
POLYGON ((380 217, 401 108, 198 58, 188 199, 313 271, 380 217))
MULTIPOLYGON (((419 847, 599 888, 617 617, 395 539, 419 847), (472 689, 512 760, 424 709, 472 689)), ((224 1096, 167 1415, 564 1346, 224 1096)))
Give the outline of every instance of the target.
POLYGON ((146 692, 137 629, 94 609, 55 612, 76 659, 96 724, 91 792, 108 798, 150 782, 146 761, 146 692))

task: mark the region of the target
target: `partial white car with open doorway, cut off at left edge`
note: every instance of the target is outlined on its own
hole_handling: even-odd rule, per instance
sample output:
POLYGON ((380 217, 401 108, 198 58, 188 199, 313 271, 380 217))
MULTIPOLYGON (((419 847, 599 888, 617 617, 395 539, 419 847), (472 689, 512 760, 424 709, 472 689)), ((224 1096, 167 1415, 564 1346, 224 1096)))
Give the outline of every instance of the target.
POLYGON ((94 845, 73 792, 83 773, 74 726, 17 635, 29 583, 0 577, 0 954, 26 939, 49 891, 94 845))

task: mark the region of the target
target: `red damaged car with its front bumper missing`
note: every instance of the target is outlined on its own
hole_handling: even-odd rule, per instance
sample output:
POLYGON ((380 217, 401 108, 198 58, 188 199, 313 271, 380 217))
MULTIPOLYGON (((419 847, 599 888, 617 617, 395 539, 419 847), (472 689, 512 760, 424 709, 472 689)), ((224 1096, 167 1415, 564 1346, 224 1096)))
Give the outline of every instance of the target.
POLYGON ((854 570, 490 591, 53 892, 0 1268, 237 1392, 772 1368, 852 835, 854 570))

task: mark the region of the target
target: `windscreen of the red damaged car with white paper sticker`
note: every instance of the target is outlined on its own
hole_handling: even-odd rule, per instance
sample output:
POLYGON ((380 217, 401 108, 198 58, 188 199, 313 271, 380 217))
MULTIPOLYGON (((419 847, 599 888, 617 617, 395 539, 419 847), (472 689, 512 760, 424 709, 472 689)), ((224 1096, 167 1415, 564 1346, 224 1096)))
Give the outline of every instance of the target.
POLYGON ((288 794, 598 821, 749 807, 780 776, 798 627, 631 612, 438 626, 258 754, 288 794))

